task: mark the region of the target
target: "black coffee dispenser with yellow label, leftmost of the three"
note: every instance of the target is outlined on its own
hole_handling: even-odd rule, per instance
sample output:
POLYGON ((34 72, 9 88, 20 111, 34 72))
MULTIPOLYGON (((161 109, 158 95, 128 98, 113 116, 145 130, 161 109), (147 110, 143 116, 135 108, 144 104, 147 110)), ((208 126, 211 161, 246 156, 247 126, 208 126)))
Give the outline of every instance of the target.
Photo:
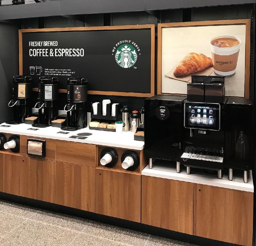
POLYGON ((14 76, 13 91, 8 106, 13 108, 13 120, 8 124, 21 124, 31 112, 32 77, 14 76))

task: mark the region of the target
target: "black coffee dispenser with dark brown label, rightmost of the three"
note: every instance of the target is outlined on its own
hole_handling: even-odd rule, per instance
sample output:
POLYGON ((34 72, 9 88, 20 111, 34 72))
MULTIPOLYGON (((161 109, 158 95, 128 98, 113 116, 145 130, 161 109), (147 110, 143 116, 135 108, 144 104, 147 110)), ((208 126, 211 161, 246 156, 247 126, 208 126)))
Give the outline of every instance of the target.
POLYGON ((64 110, 67 112, 67 126, 63 126, 62 130, 76 131, 85 127, 87 95, 87 79, 80 77, 68 78, 68 104, 64 107, 64 110))

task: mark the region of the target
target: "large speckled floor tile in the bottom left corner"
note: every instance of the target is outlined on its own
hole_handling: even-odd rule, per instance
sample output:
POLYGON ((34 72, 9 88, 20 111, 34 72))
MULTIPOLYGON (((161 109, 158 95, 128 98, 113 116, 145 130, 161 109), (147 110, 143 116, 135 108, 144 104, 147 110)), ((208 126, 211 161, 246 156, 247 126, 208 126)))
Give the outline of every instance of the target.
POLYGON ((76 231, 27 220, 3 237, 0 245, 69 245, 78 235, 76 231))

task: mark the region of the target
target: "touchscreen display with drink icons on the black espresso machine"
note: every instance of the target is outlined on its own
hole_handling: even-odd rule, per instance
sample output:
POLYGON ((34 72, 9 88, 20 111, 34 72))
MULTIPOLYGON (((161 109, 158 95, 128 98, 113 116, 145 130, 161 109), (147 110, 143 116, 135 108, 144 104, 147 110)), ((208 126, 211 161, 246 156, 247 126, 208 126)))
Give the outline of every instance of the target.
POLYGON ((185 127, 219 130, 219 105, 185 103, 185 127))

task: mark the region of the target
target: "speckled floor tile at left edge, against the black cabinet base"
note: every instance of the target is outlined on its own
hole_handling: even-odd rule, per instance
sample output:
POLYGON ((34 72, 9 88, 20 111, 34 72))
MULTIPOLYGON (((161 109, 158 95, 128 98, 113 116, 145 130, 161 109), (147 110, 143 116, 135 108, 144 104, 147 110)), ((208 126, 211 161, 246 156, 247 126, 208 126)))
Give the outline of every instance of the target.
POLYGON ((23 218, 29 218, 31 216, 31 212, 36 210, 36 208, 29 206, 0 200, 0 212, 3 213, 13 214, 23 218))

